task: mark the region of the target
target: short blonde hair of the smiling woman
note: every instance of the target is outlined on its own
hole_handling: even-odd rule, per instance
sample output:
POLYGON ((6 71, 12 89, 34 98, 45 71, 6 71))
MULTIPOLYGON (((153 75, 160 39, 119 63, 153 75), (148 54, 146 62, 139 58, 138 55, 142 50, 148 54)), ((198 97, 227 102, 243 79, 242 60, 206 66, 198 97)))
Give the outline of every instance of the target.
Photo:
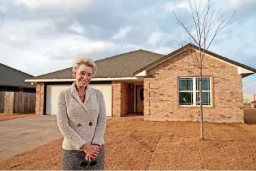
POLYGON ((95 62, 90 57, 80 57, 73 64, 73 70, 72 70, 73 77, 75 77, 75 73, 77 72, 77 69, 79 68, 79 66, 81 64, 84 64, 84 65, 89 66, 89 67, 92 68, 92 77, 94 77, 94 75, 96 75, 97 66, 96 66, 95 62))

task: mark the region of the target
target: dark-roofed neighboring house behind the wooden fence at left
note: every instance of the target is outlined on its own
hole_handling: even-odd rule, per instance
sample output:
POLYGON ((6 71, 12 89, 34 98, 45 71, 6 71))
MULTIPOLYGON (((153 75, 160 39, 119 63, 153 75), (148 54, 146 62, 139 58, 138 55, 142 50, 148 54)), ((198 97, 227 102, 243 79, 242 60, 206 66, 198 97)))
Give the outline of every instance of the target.
POLYGON ((32 75, 4 64, 0 64, 0 73, 0 92, 36 92, 36 85, 25 82, 32 75))

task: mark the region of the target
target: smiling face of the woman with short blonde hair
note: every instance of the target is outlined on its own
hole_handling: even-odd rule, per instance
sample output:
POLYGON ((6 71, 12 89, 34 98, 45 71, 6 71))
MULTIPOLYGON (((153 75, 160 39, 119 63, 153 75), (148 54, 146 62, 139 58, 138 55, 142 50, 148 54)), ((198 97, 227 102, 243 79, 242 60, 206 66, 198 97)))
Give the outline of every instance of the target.
POLYGON ((92 80, 92 67, 81 64, 75 72, 77 86, 85 88, 92 80))

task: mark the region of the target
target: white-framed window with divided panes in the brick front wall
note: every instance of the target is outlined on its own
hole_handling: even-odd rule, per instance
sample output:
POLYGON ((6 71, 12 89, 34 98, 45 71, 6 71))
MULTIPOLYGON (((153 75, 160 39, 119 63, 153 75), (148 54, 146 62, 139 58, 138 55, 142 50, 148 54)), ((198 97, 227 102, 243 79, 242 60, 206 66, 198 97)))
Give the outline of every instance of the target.
MULTIPOLYGON (((202 102, 211 105, 211 79, 202 78, 202 102)), ((179 78, 179 105, 197 106, 199 103, 199 77, 179 78)))

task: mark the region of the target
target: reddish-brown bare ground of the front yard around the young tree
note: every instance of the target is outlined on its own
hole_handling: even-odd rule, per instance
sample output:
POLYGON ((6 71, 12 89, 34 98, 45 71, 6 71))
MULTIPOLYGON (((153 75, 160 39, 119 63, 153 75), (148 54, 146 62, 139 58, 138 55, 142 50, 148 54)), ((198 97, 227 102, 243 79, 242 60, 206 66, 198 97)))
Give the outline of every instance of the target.
MULTIPOLYGON (((105 170, 256 170, 256 125, 108 120, 105 170)), ((0 170, 60 170, 62 139, 0 163, 0 170)))

